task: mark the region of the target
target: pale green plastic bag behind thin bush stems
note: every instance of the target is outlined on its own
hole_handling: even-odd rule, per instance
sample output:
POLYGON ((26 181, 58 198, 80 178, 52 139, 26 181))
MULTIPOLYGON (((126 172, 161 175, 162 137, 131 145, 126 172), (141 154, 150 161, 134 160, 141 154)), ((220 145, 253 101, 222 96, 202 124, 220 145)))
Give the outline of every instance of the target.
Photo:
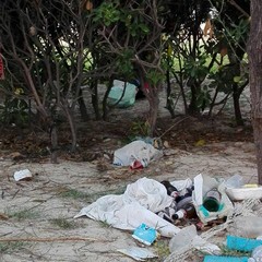
POLYGON ((112 87, 108 94, 107 103, 119 108, 134 105, 138 87, 131 83, 114 80, 112 87))

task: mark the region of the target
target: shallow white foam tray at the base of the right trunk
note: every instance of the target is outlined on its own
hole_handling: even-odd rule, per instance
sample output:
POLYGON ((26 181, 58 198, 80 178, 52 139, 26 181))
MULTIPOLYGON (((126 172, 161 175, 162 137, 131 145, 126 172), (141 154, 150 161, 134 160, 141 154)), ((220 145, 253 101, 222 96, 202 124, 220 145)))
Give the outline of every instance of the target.
POLYGON ((227 188, 226 193, 233 201, 262 199, 262 187, 227 188))

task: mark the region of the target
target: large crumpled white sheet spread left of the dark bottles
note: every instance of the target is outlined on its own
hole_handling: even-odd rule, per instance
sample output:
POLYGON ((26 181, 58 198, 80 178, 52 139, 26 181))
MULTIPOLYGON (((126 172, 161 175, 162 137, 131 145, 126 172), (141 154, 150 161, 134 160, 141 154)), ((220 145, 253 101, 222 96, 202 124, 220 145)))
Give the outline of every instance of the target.
POLYGON ((134 230, 144 223, 156 228, 162 236, 172 237, 180 229, 154 213, 169 206, 171 201, 160 182, 141 178, 129 184, 123 194, 102 196, 83 207, 74 218, 87 216, 127 230, 134 230))

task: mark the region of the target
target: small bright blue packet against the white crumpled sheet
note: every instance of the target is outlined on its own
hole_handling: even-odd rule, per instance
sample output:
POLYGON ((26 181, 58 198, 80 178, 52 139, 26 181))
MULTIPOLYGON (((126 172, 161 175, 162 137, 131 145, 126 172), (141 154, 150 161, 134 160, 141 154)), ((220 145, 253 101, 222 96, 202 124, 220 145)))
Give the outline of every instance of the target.
POLYGON ((148 227, 142 223, 134 229, 132 237, 142 243, 151 246, 156 240, 157 235, 155 228, 148 227))

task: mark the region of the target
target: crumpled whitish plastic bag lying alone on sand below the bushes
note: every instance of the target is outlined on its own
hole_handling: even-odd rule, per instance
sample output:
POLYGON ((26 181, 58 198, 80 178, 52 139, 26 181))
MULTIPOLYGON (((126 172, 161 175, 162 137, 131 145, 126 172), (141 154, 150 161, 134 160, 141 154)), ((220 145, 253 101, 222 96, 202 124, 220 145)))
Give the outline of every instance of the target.
POLYGON ((150 162, 158 159, 162 156, 163 152, 155 148, 152 144, 136 140, 116 150, 112 164, 117 166, 130 166, 134 160, 146 160, 150 164, 150 162))

